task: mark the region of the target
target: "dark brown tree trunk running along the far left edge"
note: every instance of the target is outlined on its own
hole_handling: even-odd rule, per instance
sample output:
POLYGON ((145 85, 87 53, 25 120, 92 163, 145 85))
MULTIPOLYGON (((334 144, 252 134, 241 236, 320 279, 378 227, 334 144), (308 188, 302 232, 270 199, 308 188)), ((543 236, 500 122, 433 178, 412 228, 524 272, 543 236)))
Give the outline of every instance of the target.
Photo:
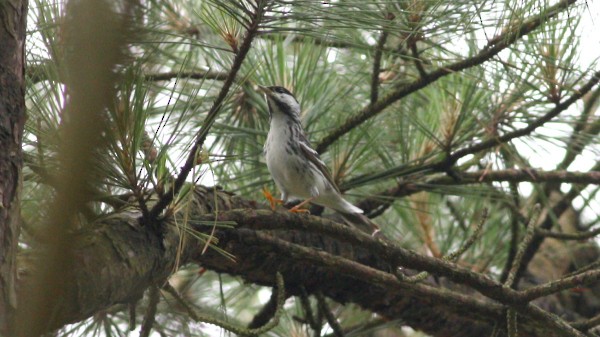
POLYGON ((9 334, 9 322, 17 305, 26 16, 27 0, 0 2, 0 335, 9 334))

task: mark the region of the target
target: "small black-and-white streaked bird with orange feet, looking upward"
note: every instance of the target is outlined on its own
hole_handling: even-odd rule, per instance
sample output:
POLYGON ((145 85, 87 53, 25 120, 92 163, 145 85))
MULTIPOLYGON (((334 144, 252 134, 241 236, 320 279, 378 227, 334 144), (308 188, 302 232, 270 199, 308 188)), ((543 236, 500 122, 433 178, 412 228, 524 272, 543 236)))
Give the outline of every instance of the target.
POLYGON ((258 85, 269 108, 269 132, 264 145, 267 167, 281 192, 276 200, 268 190, 265 196, 271 202, 287 203, 290 198, 303 200, 290 209, 301 209, 307 203, 327 207, 338 212, 346 222, 366 230, 379 232, 379 226, 363 214, 363 210, 348 202, 331 177, 329 169, 315 151, 300 120, 300 103, 286 88, 258 85))

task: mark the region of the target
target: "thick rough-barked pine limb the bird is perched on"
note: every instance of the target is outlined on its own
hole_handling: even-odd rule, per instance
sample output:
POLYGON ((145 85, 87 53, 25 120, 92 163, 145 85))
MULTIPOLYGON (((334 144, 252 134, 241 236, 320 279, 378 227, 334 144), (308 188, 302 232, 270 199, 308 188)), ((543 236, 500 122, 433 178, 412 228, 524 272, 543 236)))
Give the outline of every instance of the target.
MULTIPOLYGON (((299 295, 302 288, 309 294, 322 292, 386 319, 400 319, 433 336, 487 336, 496 322, 499 326, 505 324, 505 307, 461 284, 460 277, 451 276, 454 282, 447 277, 399 281, 393 274, 399 266, 390 256, 314 230, 320 221, 334 225, 328 220, 256 209, 253 202, 201 187, 196 189, 195 197, 190 223, 214 220, 215 200, 223 212, 218 220, 237 222, 233 228, 218 228, 215 232, 219 247, 232 253, 235 260, 212 249, 201 254, 203 243, 187 236, 182 264, 200 264, 266 286, 274 285, 275 272, 279 271, 289 295, 299 295)), ((71 275, 64 285, 68 296, 60 301, 49 329, 82 320, 114 304, 135 301, 148 286, 160 285, 168 278, 180 240, 176 227, 167 224, 169 230, 159 240, 139 224, 139 216, 137 212, 118 213, 74 236, 76 264, 65 271, 71 275)), ((212 226, 198 225, 195 229, 209 233, 212 226)), ((380 244, 386 245, 385 241, 380 244)), ((404 274, 414 271, 405 269, 404 274)), ((560 314, 572 310, 554 295, 537 304, 560 314), (552 306, 545 307, 549 300, 552 306)), ((519 336, 582 335, 548 320, 532 304, 518 311, 522 317, 518 321, 519 336)))

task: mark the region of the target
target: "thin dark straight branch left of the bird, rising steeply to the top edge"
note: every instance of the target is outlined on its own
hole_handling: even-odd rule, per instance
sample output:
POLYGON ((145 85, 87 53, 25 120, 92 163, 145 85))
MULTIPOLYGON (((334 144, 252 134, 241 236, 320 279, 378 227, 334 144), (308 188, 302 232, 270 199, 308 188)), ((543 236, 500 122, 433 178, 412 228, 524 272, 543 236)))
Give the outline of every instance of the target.
POLYGON ((194 145, 190 149, 190 153, 188 155, 188 158, 187 158, 185 164, 182 166, 181 171, 180 171, 179 175, 177 176, 177 179, 175 179, 175 182, 173 183, 173 187, 158 200, 158 202, 150 210, 150 214, 149 214, 148 218, 145 219, 146 221, 149 221, 151 224, 154 224, 156 222, 158 215, 173 200, 175 195, 177 193, 179 193, 179 191, 181 190, 181 187, 183 187, 185 179, 187 178, 188 174, 194 167, 198 150, 202 149, 202 145, 204 144, 204 141, 206 140, 206 137, 208 136, 208 131, 210 130, 213 123, 215 122, 217 115, 219 114, 219 111, 221 110, 222 103, 225 100, 225 97, 227 97, 227 94, 229 93, 229 89, 231 88, 231 85, 233 84, 233 81, 235 80, 235 77, 236 77, 238 71, 240 70, 243 61, 246 58, 246 55, 250 51, 250 46, 252 45, 252 40, 254 39, 254 37, 256 36, 256 34, 258 32, 258 27, 260 25, 261 19, 264 14, 265 3, 266 3, 265 0, 258 0, 258 2, 256 4, 256 11, 254 12, 254 16, 252 17, 251 24, 248 27, 248 30, 246 32, 246 35, 244 36, 243 42, 242 42, 241 46, 239 47, 238 52, 235 55, 233 64, 231 66, 231 69, 229 70, 229 74, 227 75, 227 78, 225 79, 225 82, 223 83, 223 87, 221 87, 221 90, 219 91, 217 98, 213 102, 213 105, 212 105, 210 111, 208 112, 206 119, 204 119, 202 128, 200 129, 200 132, 198 133, 198 136, 196 138, 196 141, 194 142, 194 145))

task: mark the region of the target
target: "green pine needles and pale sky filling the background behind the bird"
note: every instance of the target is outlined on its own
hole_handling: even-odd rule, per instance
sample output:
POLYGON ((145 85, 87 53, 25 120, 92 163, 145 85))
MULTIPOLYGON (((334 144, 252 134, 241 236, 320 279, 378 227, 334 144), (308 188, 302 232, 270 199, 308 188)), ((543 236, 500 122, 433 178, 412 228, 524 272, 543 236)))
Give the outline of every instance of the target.
MULTIPOLYGON (((188 182, 218 184, 264 204, 262 187, 275 186, 262 156, 268 111, 256 84, 276 84, 301 102, 309 138, 341 189, 403 247, 446 256, 464 245, 487 210, 481 236, 458 263, 503 281, 534 204, 544 210, 540 222, 549 219, 546 230, 598 228, 600 90, 546 120, 597 69, 597 60, 581 56, 591 48, 587 44, 599 47, 597 40, 581 39, 581 22, 598 18, 587 3, 560 2, 565 9, 543 0, 266 3, 188 182), (524 36, 517 39, 518 34, 524 36), (520 133, 530 126, 535 127, 520 133), (570 174, 575 171, 581 173, 570 174), (561 200, 573 214, 562 226, 558 218, 565 210, 548 213, 561 200)), ((151 208, 156 198, 148 196, 151 190, 160 194, 174 186, 197 133, 208 130, 213 104, 252 25, 253 4, 111 4, 128 16, 126 48, 113 69, 118 86, 103 115, 108 128, 88 167, 94 179, 86 188, 93 198, 78 214, 77 227, 126 208, 151 208)), ((55 194, 59 129, 70 95, 65 78, 74 75, 67 56, 78 47, 65 42, 68 16, 63 2, 30 3, 23 249, 39 239, 37 224, 55 194)), ((181 189, 173 212, 186 214, 192 190, 181 189)), ((178 223, 185 227, 186 217, 178 223)), ((575 256, 566 258, 567 267, 547 260, 532 263, 518 278, 550 281, 583 266, 575 256)), ((240 323, 251 320, 269 296, 262 287, 198 266, 182 266, 170 282, 193 307, 240 323)), ((287 302, 269 335, 332 333, 329 324, 314 332, 296 319, 306 309, 300 302, 287 302)), ((351 304, 330 305, 347 336, 410 334, 399 332, 402 322, 381 320, 351 304), (370 332, 357 332, 361 325, 370 332)), ((126 308, 114 307, 60 335, 121 336, 128 324, 126 308)), ((154 330, 164 336, 226 334, 190 322, 167 293, 160 296, 154 330)))

